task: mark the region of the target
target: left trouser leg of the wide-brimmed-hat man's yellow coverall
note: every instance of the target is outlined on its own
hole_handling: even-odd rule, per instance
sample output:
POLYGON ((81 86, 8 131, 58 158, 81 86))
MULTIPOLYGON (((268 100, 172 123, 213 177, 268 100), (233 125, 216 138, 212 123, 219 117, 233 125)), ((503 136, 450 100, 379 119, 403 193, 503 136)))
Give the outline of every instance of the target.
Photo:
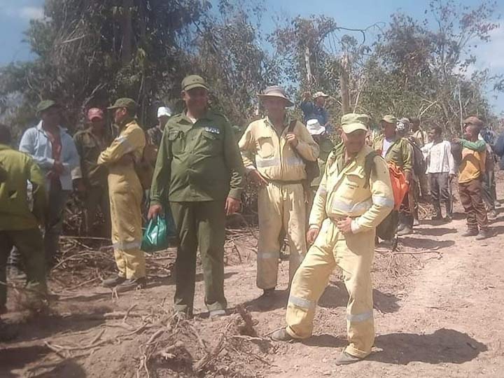
POLYGON ((281 189, 272 183, 259 190, 259 241, 257 286, 275 288, 280 255, 279 235, 282 228, 281 189))

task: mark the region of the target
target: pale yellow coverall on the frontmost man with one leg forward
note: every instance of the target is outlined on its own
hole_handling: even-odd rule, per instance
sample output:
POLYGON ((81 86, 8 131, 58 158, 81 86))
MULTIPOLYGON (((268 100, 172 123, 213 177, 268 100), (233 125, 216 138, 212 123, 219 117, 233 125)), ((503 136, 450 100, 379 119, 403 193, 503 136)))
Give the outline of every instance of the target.
POLYGON ((369 181, 365 174, 365 146, 346 166, 335 158, 328 164, 311 209, 310 228, 320 232, 294 276, 287 306, 287 332, 295 338, 311 336, 316 304, 332 269, 342 269, 349 302, 346 352, 363 358, 374 342, 371 267, 377 225, 393 209, 393 194, 386 162, 374 158, 369 181), (351 234, 343 235, 338 218, 352 218, 351 234))

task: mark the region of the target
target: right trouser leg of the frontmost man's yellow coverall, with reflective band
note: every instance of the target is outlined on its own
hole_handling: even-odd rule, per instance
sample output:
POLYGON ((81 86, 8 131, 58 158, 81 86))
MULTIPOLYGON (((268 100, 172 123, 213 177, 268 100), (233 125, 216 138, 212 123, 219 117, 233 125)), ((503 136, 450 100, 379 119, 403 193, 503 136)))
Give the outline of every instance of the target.
POLYGON ((346 307, 346 330, 349 346, 345 351, 352 356, 365 357, 374 342, 372 316, 371 267, 374 255, 374 232, 346 235, 336 242, 335 260, 342 269, 349 302, 346 307))

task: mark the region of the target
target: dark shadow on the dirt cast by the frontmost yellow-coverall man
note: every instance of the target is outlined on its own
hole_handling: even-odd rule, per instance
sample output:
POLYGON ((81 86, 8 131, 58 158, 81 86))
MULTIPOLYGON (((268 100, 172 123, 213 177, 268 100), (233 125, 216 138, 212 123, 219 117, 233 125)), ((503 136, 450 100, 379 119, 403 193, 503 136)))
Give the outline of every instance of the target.
POLYGON ((383 349, 368 360, 395 365, 411 362, 465 363, 487 350, 486 345, 466 333, 441 328, 430 335, 391 333, 379 335, 374 345, 383 349))

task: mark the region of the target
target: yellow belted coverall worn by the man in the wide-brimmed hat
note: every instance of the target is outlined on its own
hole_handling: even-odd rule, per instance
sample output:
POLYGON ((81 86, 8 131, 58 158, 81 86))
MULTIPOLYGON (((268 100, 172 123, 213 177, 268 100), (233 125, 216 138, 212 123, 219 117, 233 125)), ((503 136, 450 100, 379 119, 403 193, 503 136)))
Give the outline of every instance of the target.
POLYGON ((297 122, 293 132, 299 144, 293 148, 286 141, 288 125, 286 120, 286 127, 279 135, 267 118, 256 120, 248 125, 238 144, 246 169, 257 169, 269 182, 258 195, 257 285, 262 289, 276 287, 282 230, 288 237, 290 279, 307 250, 306 206, 301 183, 307 176, 300 156, 316 161, 318 145, 306 127, 297 122))

